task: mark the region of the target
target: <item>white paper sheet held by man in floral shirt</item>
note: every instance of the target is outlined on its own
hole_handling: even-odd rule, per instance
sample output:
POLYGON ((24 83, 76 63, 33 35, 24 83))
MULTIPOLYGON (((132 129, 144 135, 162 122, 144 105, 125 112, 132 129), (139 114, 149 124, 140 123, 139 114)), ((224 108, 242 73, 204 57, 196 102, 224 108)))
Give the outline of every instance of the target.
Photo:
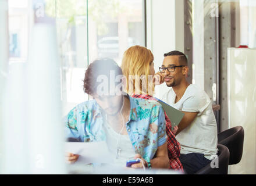
POLYGON ((76 163, 113 163, 105 141, 102 142, 66 142, 66 152, 78 154, 76 163))

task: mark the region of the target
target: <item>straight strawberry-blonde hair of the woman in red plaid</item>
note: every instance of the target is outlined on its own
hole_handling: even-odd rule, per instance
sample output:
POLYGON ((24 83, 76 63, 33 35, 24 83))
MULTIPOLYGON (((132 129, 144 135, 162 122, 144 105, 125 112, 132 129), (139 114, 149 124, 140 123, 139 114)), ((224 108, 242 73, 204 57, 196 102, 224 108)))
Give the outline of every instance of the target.
POLYGON ((154 94, 153 78, 150 75, 150 63, 153 60, 152 52, 145 47, 136 45, 125 51, 121 69, 127 80, 127 94, 154 94))

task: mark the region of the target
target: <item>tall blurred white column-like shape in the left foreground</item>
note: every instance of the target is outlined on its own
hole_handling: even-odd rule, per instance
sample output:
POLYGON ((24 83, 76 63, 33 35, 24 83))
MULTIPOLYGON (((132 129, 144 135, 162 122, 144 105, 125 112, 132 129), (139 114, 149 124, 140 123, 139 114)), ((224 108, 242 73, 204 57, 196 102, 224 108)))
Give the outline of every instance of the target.
POLYGON ((54 24, 36 24, 28 66, 32 173, 65 171, 60 69, 54 24))

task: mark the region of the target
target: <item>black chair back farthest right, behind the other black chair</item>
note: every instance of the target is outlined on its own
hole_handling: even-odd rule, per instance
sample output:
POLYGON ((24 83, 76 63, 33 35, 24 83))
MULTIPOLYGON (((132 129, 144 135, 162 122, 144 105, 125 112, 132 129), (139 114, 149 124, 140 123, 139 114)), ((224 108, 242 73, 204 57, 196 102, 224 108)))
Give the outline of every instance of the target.
POLYGON ((243 155, 244 129, 241 126, 229 128, 218 134, 218 144, 229 148, 229 164, 237 164, 243 155))

